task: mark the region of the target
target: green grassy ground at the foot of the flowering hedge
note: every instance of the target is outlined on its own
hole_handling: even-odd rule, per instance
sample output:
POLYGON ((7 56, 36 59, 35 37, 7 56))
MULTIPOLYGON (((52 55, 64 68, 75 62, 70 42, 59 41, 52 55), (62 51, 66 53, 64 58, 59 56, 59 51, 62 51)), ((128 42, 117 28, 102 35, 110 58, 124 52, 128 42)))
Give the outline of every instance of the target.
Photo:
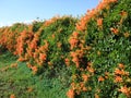
POLYGON ((41 75, 33 75, 24 62, 19 62, 9 52, 0 54, 0 98, 67 98, 69 83, 61 71, 56 77, 49 77, 49 71, 41 75))

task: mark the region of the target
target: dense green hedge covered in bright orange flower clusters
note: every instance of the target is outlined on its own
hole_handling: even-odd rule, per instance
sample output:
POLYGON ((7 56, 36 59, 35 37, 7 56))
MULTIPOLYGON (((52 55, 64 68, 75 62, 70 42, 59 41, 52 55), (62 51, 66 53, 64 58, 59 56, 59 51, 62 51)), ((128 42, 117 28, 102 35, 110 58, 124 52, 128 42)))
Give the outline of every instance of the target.
MULTIPOLYGON (((0 28, 0 48, 34 74, 71 75, 69 98, 131 97, 131 0, 103 0, 81 19, 52 17, 0 28)), ((68 81, 68 79, 67 79, 68 81)))

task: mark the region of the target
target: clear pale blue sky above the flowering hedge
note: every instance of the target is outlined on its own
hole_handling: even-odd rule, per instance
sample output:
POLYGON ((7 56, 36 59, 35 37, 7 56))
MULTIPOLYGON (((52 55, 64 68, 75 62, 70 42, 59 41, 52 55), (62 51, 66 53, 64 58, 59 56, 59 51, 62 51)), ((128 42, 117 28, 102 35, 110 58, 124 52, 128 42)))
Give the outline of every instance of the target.
POLYGON ((0 0, 0 26, 55 15, 81 16, 99 0, 0 0))

